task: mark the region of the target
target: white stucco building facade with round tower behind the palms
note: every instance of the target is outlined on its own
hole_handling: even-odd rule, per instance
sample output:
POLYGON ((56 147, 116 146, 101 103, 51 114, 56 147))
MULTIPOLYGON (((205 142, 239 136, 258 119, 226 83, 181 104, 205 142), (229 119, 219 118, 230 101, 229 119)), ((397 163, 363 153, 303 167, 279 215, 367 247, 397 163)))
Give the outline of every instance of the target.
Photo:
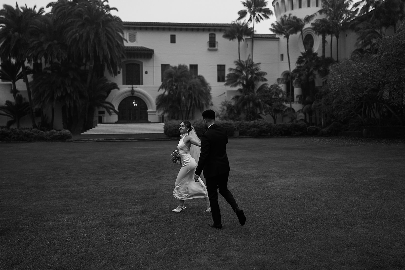
MULTIPOLYGON (((320 0, 274 0, 275 16, 279 19, 284 14, 297 17, 313 14, 320 9, 320 0)), ((262 21, 261 23, 266 23, 262 21)), ((213 109, 220 111, 221 102, 230 100, 236 94, 236 89, 224 86, 228 68, 234 67, 238 59, 238 42, 222 38, 230 24, 218 23, 153 23, 153 22, 124 22, 124 38, 127 42, 127 57, 123 59, 123 68, 116 77, 107 78, 119 86, 119 90, 111 92, 107 101, 119 111, 118 114, 108 115, 103 109, 95 112, 97 123, 136 123, 161 122, 162 112, 156 111, 156 97, 162 82, 162 73, 168 66, 184 64, 196 74, 203 75, 211 85, 213 109), (136 102, 137 106, 133 106, 136 102)), ((270 27, 270 25, 269 25, 270 27)), ((355 49, 356 37, 347 39, 344 35, 339 42, 339 58, 350 56, 355 49), (342 47, 340 48, 340 45, 342 47)), ((317 36, 307 25, 304 37, 313 39, 313 49, 322 54, 321 37, 317 36)), ((241 59, 245 60, 251 54, 252 40, 247 37, 240 44, 241 59)), ((335 45, 336 46, 336 45, 335 45)), ((301 37, 296 34, 290 37, 291 69, 301 51, 304 51, 301 37)), ((336 51, 336 48, 333 48, 336 51)), ((326 46, 326 56, 330 55, 326 46)), ((335 53, 333 55, 336 57, 335 53)), ((261 70, 267 72, 268 83, 278 83, 284 90, 287 84, 283 77, 288 74, 288 58, 286 39, 274 34, 255 34, 254 62, 260 62, 261 70)), ((107 73, 107 72, 106 72, 107 73)), ((317 82, 321 85, 322 82, 317 82)), ((299 85, 294 86, 294 96, 301 95, 299 85)), ((0 83, 0 104, 13 100, 10 93, 11 84, 0 83)), ((27 97, 23 81, 17 83, 17 89, 27 97)), ((297 101, 293 104, 297 111, 302 105, 297 101)), ((50 115, 50 112, 47 113, 50 115)), ((39 115, 38 115, 39 116, 39 115)), ((198 115, 196 116, 198 117, 198 115)), ((5 125, 7 117, 0 116, 0 125, 5 125)), ((39 121, 39 118, 37 118, 39 121)), ((22 126, 31 126, 27 116, 21 122, 22 126)), ((62 129, 60 109, 55 108, 56 129, 62 129)))

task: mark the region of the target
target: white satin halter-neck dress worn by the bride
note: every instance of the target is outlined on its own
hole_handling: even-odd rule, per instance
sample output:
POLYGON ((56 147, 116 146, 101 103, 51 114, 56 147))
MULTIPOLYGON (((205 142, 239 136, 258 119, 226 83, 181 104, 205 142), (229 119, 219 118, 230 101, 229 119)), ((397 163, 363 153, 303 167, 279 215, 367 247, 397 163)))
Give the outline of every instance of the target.
POLYGON ((194 181, 197 163, 190 155, 190 149, 183 142, 186 135, 181 135, 179 144, 177 145, 180 152, 181 169, 179 174, 177 174, 173 196, 178 200, 205 198, 208 197, 208 192, 203 180, 199 177, 198 182, 194 181))

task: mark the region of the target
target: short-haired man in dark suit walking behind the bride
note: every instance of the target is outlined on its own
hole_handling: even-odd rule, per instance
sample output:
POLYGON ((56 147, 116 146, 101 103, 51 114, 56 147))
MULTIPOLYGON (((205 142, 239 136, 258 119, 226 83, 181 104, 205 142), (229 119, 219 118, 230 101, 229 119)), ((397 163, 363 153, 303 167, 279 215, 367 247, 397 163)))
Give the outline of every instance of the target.
POLYGON ((208 130, 201 137, 201 154, 198 160, 194 181, 204 170, 205 184, 207 185, 209 202, 211 204, 211 215, 214 223, 211 227, 221 229, 221 213, 218 205, 218 193, 230 204, 236 213, 239 223, 245 224, 246 217, 243 210, 238 207, 232 193, 228 190, 229 162, 226 155, 226 144, 228 135, 226 129, 215 124, 215 112, 213 110, 203 111, 203 119, 208 130))

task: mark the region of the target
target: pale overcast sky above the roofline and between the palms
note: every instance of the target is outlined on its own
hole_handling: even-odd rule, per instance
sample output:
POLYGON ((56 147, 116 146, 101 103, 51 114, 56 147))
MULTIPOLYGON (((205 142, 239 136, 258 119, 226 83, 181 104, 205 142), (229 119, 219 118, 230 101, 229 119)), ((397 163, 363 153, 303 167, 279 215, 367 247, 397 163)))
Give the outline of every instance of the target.
MULTIPOLYGON (((45 7, 51 0, 0 0, 3 4, 45 7)), ((267 7, 273 11, 271 0, 267 7)), ((173 23, 231 23, 243 9, 240 0, 109 0, 118 9, 122 21, 153 21, 173 23)), ((47 10, 49 11, 49 10, 47 10)), ((255 24, 256 33, 271 34, 269 28, 275 16, 255 24)))

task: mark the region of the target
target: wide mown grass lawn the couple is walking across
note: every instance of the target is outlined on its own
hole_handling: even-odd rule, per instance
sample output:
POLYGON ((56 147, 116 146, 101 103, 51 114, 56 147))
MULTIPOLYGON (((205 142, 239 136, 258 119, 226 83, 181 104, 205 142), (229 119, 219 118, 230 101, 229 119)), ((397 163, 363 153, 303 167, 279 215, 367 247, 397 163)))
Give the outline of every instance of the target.
POLYGON ((404 269, 405 144, 230 138, 222 230, 177 141, 0 144, 0 269, 404 269))

